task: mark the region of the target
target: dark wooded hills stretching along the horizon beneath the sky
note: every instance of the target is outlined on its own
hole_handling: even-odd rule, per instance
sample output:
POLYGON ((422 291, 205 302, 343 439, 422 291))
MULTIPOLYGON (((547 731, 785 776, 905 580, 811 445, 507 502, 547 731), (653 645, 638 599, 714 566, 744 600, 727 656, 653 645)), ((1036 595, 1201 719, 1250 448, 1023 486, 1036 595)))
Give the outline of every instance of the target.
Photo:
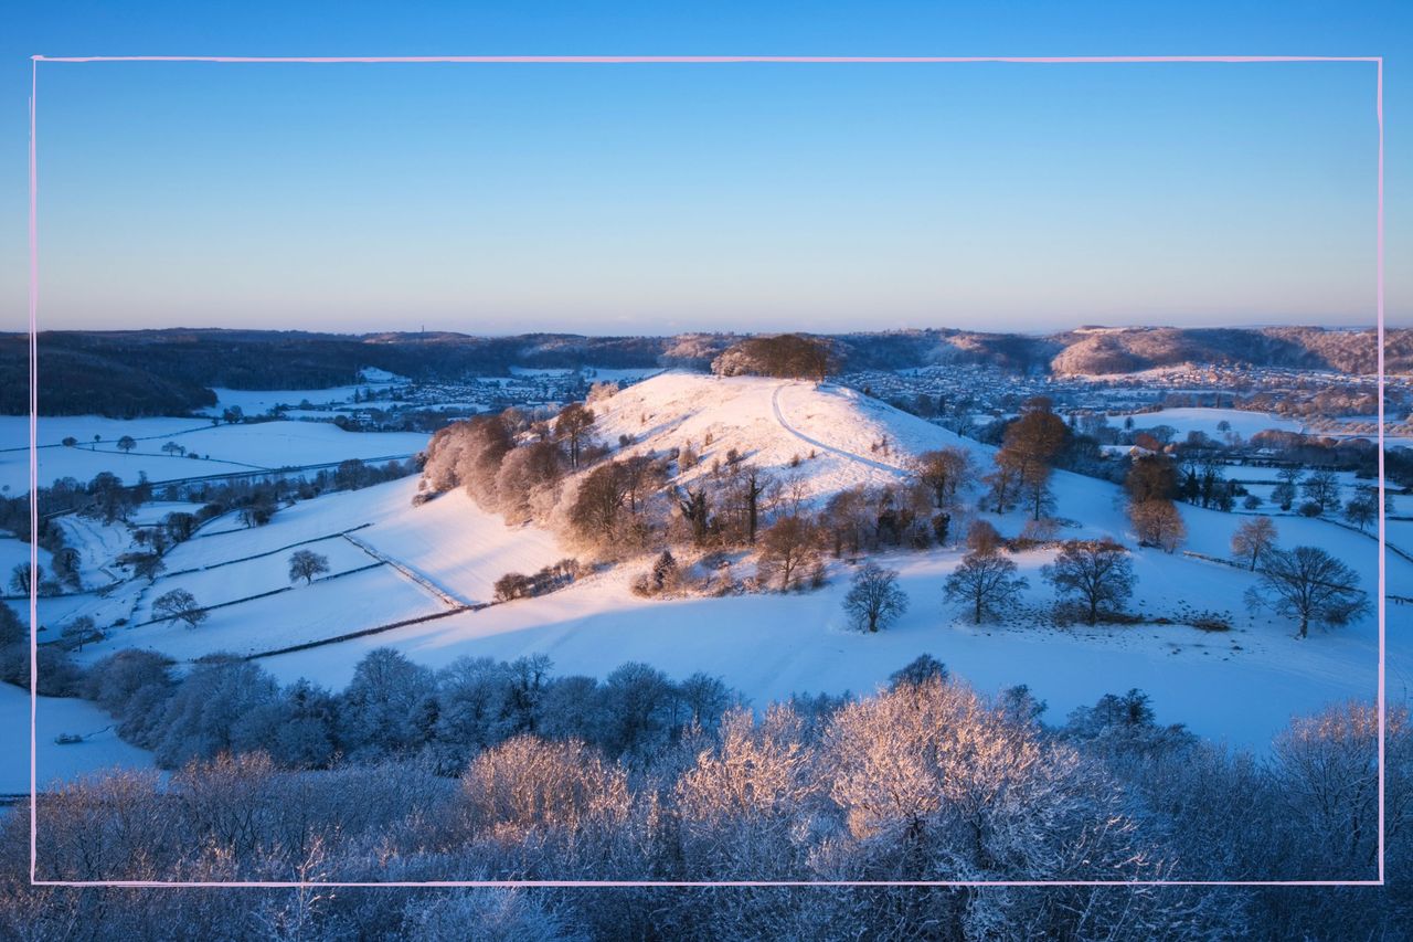
MULTIPOLYGON (((1046 337, 931 328, 848 332, 825 339, 835 369, 986 362, 1002 369, 1115 375, 1180 365, 1289 366, 1373 373, 1371 330, 1314 327, 1084 327, 1046 337)), ((747 335, 584 337, 523 334, 315 334, 161 330, 40 334, 40 412, 116 417, 185 414, 215 402, 212 388, 319 389, 386 369, 418 380, 506 375, 512 366, 574 369, 671 366, 706 372, 747 335)), ((1393 330, 1386 369, 1413 372, 1413 330, 1393 330)), ((28 410, 28 344, 0 335, 0 413, 28 410)))

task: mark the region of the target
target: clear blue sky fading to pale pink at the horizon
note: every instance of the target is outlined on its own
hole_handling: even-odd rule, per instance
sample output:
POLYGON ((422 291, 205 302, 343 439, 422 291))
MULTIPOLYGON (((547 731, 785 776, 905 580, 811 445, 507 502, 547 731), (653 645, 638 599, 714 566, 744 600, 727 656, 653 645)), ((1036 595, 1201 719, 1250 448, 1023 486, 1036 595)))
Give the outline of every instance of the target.
MULTIPOLYGON (((51 4, 28 55, 1385 55, 1407 4, 51 4), (1061 7, 1064 16, 1060 16, 1061 7), (612 11, 612 13, 609 13, 612 11)), ((1390 45, 1392 44, 1392 45, 1390 45)), ((1375 71, 1279 65, 40 64, 42 327, 675 332, 1369 324, 1375 71)), ((1405 107, 1406 103, 1406 107, 1405 107)), ((1400 110, 1402 109, 1402 110, 1400 110)))

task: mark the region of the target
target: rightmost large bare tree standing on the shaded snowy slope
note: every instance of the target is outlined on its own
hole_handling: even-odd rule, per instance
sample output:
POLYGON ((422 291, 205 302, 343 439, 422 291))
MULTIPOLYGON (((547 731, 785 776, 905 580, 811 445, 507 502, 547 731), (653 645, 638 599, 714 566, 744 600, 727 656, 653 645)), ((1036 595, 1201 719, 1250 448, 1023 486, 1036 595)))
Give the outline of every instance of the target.
POLYGON ((1260 581, 1246 591, 1246 604, 1299 621, 1301 638, 1308 636, 1311 622, 1344 625, 1369 607, 1358 574, 1317 546, 1267 550, 1260 581))

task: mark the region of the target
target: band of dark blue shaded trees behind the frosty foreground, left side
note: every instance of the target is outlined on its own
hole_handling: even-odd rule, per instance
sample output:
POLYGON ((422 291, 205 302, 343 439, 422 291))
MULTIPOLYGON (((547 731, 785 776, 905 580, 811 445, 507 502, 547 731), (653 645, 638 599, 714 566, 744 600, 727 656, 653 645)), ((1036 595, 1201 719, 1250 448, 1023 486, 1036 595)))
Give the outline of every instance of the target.
POLYGON ((714 678, 673 682, 642 663, 625 663, 602 682, 551 678, 543 655, 461 658, 431 670, 379 648, 339 693, 304 680, 281 687, 259 665, 230 655, 202 658, 179 679, 172 666, 154 652, 124 649, 71 689, 112 713, 119 734, 153 750, 162 768, 263 752, 281 768, 421 757, 444 775, 527 733, 634 760, 692 730, 715 728, 738 700, 714 678))

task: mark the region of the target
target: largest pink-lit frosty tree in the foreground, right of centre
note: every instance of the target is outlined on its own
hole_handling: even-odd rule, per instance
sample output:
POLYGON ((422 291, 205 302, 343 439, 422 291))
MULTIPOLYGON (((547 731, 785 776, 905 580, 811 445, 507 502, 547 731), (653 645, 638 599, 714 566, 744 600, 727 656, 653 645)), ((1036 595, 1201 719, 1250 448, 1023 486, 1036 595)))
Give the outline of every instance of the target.
POLYGON ((829 723, 824 765, 852 873, 1154 871, 1101 769, 965 685, 931 680, 845 704, 829 723))

